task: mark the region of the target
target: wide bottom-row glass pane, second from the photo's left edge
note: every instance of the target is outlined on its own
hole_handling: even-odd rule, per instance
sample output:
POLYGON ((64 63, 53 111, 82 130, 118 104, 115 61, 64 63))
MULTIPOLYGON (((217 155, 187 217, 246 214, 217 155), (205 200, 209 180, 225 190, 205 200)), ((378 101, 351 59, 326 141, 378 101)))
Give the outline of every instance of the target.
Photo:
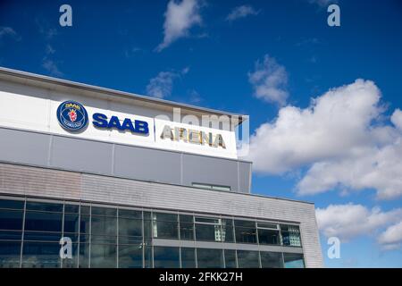
POLYGON ((59 268, 61 258, 58 242, 24 242, 22 267, 59 268))

